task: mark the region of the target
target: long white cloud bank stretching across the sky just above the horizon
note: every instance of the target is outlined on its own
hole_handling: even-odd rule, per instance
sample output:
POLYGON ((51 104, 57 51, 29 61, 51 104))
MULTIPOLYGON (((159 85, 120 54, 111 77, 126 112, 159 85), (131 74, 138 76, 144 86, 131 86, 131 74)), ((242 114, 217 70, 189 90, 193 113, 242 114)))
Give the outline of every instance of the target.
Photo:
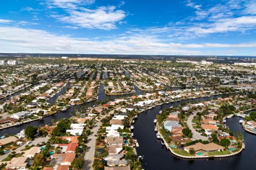
MULTIPOLYGON (((79 39, 66 35, 22 29, 17 27, 0 27, 1 52, 6 53, 78 53, 78 54, 210 54, 210 48, 255 48, 250 44, 178 44, 163 43, 160 39, 150 36, 127 36, 109 38, 108 40, 79 39), (204 52, 201 53, 200 50, 204 52)), ((216 53, 212 55, 217 55, 216 53)), ((219 54, 220 55, 220 54, 219 54)))

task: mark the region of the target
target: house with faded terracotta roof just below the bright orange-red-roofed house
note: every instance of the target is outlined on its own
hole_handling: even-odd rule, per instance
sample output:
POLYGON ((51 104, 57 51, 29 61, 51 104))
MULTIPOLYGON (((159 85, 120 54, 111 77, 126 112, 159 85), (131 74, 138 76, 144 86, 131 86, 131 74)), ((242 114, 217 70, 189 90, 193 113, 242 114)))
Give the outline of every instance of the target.
POLYGON ((75 157, 76 154, 74 153, 53 154, 51 156, 51 158, 54 159, 54 162, 59 165, 71 165, 75 157))

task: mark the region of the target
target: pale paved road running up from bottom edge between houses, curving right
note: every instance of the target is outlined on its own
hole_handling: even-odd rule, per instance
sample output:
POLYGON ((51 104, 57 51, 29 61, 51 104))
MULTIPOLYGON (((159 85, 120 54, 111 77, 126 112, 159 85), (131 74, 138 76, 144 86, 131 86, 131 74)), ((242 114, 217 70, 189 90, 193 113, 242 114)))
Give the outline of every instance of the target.
MULTIPOLYGON (((113 111, 110 111, 108 114, 102 116, 102 118, 113 114, 115 110, 119 110, 121 109, 121 107, 118 107, 116 109, 114 109, 113 111)), ((92 170, 93 167, 93 160, 94 160, 94 154, 95 154, 95 145, 96 145, 96 139, 97 137, 95 137, 94 135, 97 134, 100 126, 102 125, 102 123, 99 121, 97 123, 95 123, 93 129, 91 130, 91 134, 88 137, 88 143, 87 145, 87 150, 85 152, 85 156, 84 156, 84 169, 85 170, 92 170)))

